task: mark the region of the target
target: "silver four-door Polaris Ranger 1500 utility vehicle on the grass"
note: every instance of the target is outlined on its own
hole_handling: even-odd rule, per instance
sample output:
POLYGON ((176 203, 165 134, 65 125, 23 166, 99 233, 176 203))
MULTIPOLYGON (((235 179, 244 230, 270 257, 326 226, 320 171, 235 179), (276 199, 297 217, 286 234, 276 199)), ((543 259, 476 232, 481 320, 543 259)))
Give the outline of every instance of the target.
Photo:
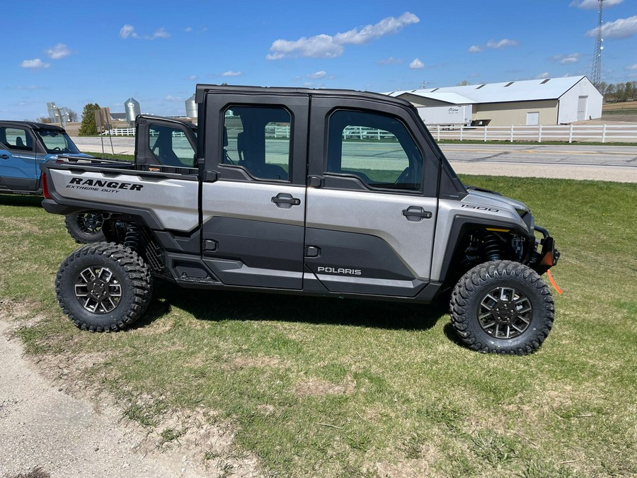
POLYGON ((59 268, 90 331, 185 288, 431 302, 470 348, 524 354, 551 330, 559 254, 529 209, 463 186, 415 108, 345 90, 198 85, 199 125, 137 118, 135 164, 42 164, 48 212, 101 211, 106 241, 59 268))

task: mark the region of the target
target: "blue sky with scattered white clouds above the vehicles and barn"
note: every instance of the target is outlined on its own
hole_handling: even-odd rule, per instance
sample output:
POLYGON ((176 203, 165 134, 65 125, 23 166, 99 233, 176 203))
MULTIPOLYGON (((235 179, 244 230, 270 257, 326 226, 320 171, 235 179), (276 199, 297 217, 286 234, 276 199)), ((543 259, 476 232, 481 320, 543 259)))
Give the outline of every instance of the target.
MULTIPOLYGON (((47 101, 183 115, 197 83, 369 91, 589 75, 596 0, 13 1, 0 119, 47 101)), ((604 1, 602 80, 637 80, 637 0, 604 1)))

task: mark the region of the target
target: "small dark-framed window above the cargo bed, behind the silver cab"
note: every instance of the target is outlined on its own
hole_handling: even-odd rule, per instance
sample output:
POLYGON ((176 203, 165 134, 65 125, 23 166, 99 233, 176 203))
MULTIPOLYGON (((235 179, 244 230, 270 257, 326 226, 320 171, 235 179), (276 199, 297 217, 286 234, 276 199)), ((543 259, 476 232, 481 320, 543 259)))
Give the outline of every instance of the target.
POLYGON ((159 164, 163 166, 195 166, 195 150, 190 146, 184 132, 175 127, 149 125, 148 144, 159 164))

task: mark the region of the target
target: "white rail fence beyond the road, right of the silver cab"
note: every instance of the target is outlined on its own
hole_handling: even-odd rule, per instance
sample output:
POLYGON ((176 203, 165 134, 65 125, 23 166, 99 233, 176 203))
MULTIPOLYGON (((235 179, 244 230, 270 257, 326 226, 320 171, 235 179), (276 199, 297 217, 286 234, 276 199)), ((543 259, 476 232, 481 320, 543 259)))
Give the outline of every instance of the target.
POLYGON ((457 141, 637 142, 637 125, 459 126, 428 125, 433 137, 457 141))

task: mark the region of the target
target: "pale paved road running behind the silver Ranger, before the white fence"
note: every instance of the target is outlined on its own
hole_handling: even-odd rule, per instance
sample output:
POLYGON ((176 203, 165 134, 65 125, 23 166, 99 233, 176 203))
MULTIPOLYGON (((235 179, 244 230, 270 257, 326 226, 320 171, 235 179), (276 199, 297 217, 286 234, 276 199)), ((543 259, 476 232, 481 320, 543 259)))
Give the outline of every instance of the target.
MULTIPOLYGON (((134 154, 134 138, 74 137, 81 151, 134 154)), ((360 144, 360 143, 359 143, 360 144)), ((458 173, 491 176, 597 179, 637 183, 637 144, 575 146, 572 144, 441 144, 458 173)))

